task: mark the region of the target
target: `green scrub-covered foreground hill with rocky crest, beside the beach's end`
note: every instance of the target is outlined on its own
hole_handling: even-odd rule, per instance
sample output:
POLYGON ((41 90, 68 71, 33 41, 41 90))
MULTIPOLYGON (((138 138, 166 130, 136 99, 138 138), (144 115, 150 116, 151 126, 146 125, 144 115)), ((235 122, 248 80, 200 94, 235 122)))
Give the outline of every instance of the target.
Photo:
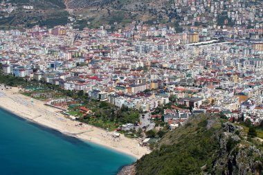
POLYGON ((242 127, 202 115, 167 133, 134 167, 142 175, 262 174, 262 146, 242 127))

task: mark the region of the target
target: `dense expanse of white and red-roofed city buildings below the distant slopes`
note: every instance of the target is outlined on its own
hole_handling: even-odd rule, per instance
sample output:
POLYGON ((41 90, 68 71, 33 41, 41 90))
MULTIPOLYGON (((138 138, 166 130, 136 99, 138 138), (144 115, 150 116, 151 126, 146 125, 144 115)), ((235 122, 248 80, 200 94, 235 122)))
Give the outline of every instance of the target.
MULTIPOLYGON (((83 91, 116 107, 150 112, 175 96, 191 113, 223 112, 259 123, 262 33, 262 27, 244 26, 176 33, 136 21, 116 32, 35 26, 0 31, 0 62, 6 75, 83 91)), ((165 122, 188 118, 189 111, 179 109, 165 114, 165 122)))

